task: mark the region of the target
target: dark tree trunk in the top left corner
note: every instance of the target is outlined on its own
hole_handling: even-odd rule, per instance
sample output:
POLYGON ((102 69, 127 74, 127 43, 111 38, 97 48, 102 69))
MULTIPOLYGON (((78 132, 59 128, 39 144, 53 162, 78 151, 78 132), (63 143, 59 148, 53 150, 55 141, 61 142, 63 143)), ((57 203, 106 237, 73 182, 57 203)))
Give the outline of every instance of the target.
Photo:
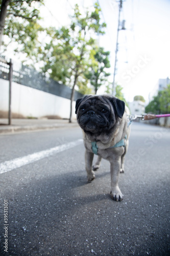
POLYGON ((0 12, 0 48, 3 42, 3 34, 4 34, 4 26, 5 26, 5 18, 7 16, 7 7, 10 3, 10 0, 3 0, 1 5, 1 12, 0 12))

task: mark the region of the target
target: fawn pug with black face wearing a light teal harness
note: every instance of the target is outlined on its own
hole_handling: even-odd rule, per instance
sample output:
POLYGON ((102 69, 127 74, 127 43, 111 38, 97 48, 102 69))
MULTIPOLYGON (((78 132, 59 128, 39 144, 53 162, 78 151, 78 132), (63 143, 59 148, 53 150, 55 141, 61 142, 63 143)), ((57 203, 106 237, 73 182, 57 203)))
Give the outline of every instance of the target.
POLYGON ((118 186, 119 173, 124 173, 130 126, 125 102, 112 95, 86 95, 76 101, 77 121, 83 131, 85 167, 88 182, 95 178, 102 158, 110 162, 111 198, 122 201, 118 186), (98 160, 92 166, 94 154, 98 160))

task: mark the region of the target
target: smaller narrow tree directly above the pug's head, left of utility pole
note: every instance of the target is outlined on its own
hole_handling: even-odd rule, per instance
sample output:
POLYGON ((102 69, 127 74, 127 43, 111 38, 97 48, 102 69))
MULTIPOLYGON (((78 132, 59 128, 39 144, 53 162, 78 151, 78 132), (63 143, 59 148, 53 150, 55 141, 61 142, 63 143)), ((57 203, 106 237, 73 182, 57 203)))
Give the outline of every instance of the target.
POLYGON ((95 94, 103 84, 106 84, 107 77, 110 76, 110 73, 106 72, 106 69, 110 68, 109 54, 110 52, 105 52, 103 47, 95 47, 91 51, 93 61, 85 76, 94 87, 95 94))

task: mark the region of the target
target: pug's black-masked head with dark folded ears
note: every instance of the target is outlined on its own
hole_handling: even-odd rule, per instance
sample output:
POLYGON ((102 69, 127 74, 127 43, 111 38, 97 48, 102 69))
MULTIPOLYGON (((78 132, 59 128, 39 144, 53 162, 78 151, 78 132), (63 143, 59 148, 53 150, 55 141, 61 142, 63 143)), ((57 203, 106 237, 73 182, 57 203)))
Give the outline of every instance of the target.
POLYGON ((76 101, 77 120, 85 133, 109 131, 124 111, 124 101, 111 95, 87 95, 76 101))

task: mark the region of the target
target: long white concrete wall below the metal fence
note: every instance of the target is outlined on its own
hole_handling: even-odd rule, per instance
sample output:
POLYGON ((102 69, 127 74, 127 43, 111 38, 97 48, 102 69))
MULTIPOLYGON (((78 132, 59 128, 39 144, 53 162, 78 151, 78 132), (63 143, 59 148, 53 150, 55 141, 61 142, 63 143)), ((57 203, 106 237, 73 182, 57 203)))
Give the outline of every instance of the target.
MULTIPOLYGON (((12 83, 12 113, 24 117, 60 116, 69 118, 70 100, 39 91, 21 84, 12 83)), ((0 79, 0 111, 8 111, 9 81, 0 79)), ((75 104, 72 103, 72 118, 76 119, 75 104)))

